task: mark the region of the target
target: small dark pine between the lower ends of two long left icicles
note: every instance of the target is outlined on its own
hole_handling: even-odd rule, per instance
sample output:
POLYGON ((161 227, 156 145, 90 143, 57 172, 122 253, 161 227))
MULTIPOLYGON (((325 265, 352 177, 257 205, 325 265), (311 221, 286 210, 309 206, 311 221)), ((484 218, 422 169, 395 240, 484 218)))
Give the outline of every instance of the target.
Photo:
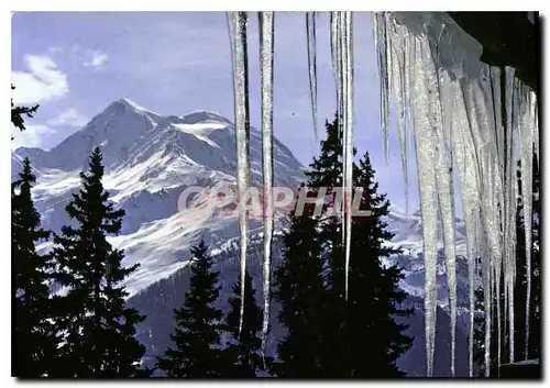
MULTIPOLYGON (((233 285, 233 295, 229 299, 229 311, 226 317, 230 342, 227 352, 232 367, 226 377, 250 378, 266 369, 262 358, 262 309, 256 304, 252 278, 246 271, 244 277, 244 314, 241 334, 239 321, 241 315, 241 281, 233 285)), ((265 361, 270 365, 270 359, 265 361)))

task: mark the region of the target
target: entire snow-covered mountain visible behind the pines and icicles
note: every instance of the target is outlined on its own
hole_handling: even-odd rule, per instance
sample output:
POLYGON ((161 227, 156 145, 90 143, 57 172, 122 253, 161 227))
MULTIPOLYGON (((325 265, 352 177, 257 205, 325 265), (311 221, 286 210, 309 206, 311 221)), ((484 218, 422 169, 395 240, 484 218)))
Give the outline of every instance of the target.
MULTIPOLYGON (((80 131, 50 151, 24 147, 15 149, 12 153, 12 177, 19 173, 23 157, 29 156, 37 176, 33 195, 44 228, 58 231, 62 225, 70 223, 65 214, 65 206, 72 193, 79 189, 79 173, 87 168, 89 155, 96 146, 102 149, 105 186, 110 191, 111 199, 127 212, 121 234, 110 241, 116 247, 124 250, 125 265, 141 265, 128 279, 127 287, 132 296, 131 303, 147 314, 139 336, 147 345, 147 353, 155 355, 168 344, 173 308, 183 302, 190 245, 204 239, 218 257, 217 265, 221 270, 224 289, 220 303, 224 303, 227 292, 238 278, 234 254, 239 233, 237 218, 232 214, 211 217, 210 212, 200 207, 178 208, 180 193, 190 186, 205 189, 218 184, 235 186, 233 124, 213 112, 199 111, 184 117, 166 117, 121 99, 110 103, 80 131)), ((250 156, 252 184, 260 185, 262 144, 261 133, 256 129, 251 130, 250 156)), ((298 187, 304 179, 302 171, 304 167, 290 151, 274 140, 275 185, 298 187)), ((464 228, 460 220, 457 221, 458 252, 463 255, 464 228)), ((407 277, 400 286, 410 295, 407 303, 416 307, 409 324, 411 333, 419 336, 415 340, 415 346, 404 355, 400 366, 413 375, 421 375, 425 365, 421 351, 421 219, 418 212, 406 214, 393 209, 387 223, 395 233, 392 244, 404 248, 404 254, 393 257, 391 262, 404 267, 407 277)), ((261 224, 251 222, 251 236, 260 239, 261 224)), ((46 243, 40 248, 47 250, 48 246, 46 243)), ((261 281, 261 243, 253 244, 249 254, 252 271, 257 275, 254 280, 256 284, 261 281)), ((274 260, 277 255, 279 253, 275 254, 274 260)), ((440 256, 442 258, 442 252, 440 256)), ((465 262, 459 260, 458 268, 459 304, 461 311, 465 311, 465 262)), ((440 314, 446 315, 448 289, 442 259, 438 274, 440 314)), ((262 287, 256 289, 260 296, 262 287)), ((461 314, 460 322, 465 322, 466 317, 468 311, 461 314)), ((448 323, 443 322, 444 319, 440 320, 438 330, 444 332, 448 323)), ((280 328, 276 320, 272 323, 272 337, 276 339, 280 328)), ((449 347, 446 343, 441 346, 449 347)), ((464 340, 458 343, 459 348, 463 350, 464 346, 464 340)), ((448 351, 441 357, 448 359, 448 351)), ((458 362, 460 358, 457 357, 458 362)), ((436 375, 446 376, 446 370, 447 367, 438 369, 436 365, 436 375)), ((464 369, 458 366, 457 370, 464 369)))

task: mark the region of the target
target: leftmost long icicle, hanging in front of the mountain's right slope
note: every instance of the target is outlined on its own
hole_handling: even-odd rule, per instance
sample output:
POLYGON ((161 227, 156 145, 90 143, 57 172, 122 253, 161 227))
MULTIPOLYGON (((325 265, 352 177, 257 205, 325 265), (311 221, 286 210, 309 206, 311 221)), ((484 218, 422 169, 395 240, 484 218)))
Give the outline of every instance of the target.
MULTIPOLYGON (((235 106, 237 142, 237 189, 239 200, 244 198, 249 187, 250 160, 250 108, 249 108, 249 59, 246 53, 246 12, 230 12, 230 32, 233 57, 233 95, 235 106)), ((245 207, 239 211, 239 234, 241 241, 241 314, 239 335, 244 315, 244 278, 246 273, 248 222, 245 207)))

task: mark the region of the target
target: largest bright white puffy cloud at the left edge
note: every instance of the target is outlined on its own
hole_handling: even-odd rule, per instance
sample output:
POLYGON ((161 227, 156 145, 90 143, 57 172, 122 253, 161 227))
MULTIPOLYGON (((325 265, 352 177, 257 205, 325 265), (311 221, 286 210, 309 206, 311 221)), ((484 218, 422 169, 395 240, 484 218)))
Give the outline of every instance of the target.
POLYGON ((11 73, 11 81, 15 86, 12 95, 14 103, 45 102, 69 91, 67 75, 57 68, 52 58, 25 55, 23 59, 28 71, 11 73))

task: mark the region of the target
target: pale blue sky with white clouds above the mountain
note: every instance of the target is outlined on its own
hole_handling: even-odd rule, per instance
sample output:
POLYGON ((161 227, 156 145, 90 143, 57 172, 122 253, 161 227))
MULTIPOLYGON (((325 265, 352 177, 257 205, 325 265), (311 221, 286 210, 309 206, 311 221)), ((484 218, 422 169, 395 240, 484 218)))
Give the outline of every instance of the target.
MULTIPOLYGON (((354 145, 371 155, 380 188, 405 208, 400 151, 391 128, 383 155, 380 84, 371 13, 354 12, 354 145)), ((336 112, 329 18, 318 15, 319 134, 336 112)), ((21 12, 12 16, 15 103, 40 104, 13 148, 51 148, 80 130, 110 102, 129 98, 161 114, 209 110, 233 121, 228 24, 223 12, 21 12)), ((251 124, 261 126, 257 16, 249 20, 251 124)), ((302 164, 316 152, 305 14, 275 15, 274 134, 302 164)), ((395 120, 393 120, 394 122, 395 120)), ((322 137, 322 136, 321 136, 322 137)), ((410 143, 411 144, 411 143, 410 143)), ((409 149, 413 149, 409 146, 409 149)), ((418 208, 409 154, 411 209, 418 208)))

